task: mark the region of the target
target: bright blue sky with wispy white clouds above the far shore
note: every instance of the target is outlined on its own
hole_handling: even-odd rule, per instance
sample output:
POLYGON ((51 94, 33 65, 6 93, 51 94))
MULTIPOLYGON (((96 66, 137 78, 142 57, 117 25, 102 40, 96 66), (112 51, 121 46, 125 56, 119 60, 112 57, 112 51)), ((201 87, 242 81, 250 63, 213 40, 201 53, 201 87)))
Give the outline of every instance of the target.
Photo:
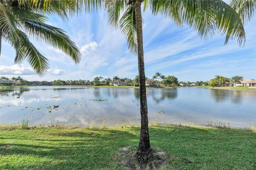
MULTIPOLYGON (((224 45, 225 36, 218 33, 207 41, 201 40, 187 25, 179 27, 161 15, 151 15, 150 11, 142 16, 146 77, 160 72, 174 75, 179 81, 206 81, 217 74, 256 78, 256 19, 245 24, 246 42, 239 47, 231 39, 224 45)), ((76 65, 60 50, 31 39, 50 62, 49 71, 39 77, 26 61, 14 65, 15 51, 4 41, 1 76, 51 81, 93 80, 98 75, 133 79, 138 74, 137 56, 129 53, 122 33, 109 27, 105 11, 73 16, 68 21, 50 16, 48 23, 67 31, 81 49, 81 62, 76 65)))

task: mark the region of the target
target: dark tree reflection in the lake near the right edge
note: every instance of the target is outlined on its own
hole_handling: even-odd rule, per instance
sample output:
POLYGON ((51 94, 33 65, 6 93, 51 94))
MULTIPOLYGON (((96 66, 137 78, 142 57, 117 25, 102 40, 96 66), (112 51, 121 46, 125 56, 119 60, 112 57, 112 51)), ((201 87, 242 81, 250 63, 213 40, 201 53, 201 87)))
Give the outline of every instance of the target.
POLYGON ((224 102, 225 100, 230 98, 232 103, 240 104, 243 101, 243 97, 245 97, 243 94, 246 94, 246 92, 239 90, 211 89, 210 95, 214 98, 216 102, 224 102))

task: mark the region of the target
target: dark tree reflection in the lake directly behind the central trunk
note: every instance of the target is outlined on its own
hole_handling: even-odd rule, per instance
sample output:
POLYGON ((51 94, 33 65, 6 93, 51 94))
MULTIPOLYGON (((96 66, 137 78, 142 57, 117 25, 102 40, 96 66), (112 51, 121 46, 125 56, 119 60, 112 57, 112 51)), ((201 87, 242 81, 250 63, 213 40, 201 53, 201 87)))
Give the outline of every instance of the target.
MULTIPOLYGON (((140 98, 139 89, 134 89, 135 98, 140 98)), ((152 97, 156 104, 163 101, 165 98, 174 99, 177 98, 178 92, 177 89, 147 89, 147 97, 152 97)))

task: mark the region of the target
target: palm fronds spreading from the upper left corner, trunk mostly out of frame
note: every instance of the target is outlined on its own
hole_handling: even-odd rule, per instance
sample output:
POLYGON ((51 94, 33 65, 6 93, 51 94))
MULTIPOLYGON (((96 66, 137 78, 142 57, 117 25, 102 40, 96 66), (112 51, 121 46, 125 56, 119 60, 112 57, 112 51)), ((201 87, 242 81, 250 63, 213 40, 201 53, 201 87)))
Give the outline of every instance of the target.
MULTIPOLYGON (((32 1, 30 1, 32 2, 32 1)), ((35 1, 33 1, 35 2, 35 1)), ((58 2, 53 1, 51 12, 44 13, 43 3, 34 4, 31 8, 13 0, 0 1, 0 55, 1 43, 4 38, 16 51, 15 63, 27 60, 38 74, 43 74, 49 68, 48 60, 30 42, 29 36, 41 40, 51 46, 62 50, 69 55, 75 63, 80 61, 80 52, 75 43, 59 28, 46 24, 46 14, 56 13, 65 18, 65 10, 60 10, 58 2)))

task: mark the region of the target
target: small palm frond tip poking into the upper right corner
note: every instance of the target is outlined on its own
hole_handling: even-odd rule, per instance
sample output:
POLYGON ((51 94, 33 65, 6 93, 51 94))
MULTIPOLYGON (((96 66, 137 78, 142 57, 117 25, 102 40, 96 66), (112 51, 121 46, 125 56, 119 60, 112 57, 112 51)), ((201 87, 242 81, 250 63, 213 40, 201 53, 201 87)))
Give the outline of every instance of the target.
POLYGON ((233 7, 244 23, 250 21, 255 15, 255 0, 232 0, 230 6, 233 7))

